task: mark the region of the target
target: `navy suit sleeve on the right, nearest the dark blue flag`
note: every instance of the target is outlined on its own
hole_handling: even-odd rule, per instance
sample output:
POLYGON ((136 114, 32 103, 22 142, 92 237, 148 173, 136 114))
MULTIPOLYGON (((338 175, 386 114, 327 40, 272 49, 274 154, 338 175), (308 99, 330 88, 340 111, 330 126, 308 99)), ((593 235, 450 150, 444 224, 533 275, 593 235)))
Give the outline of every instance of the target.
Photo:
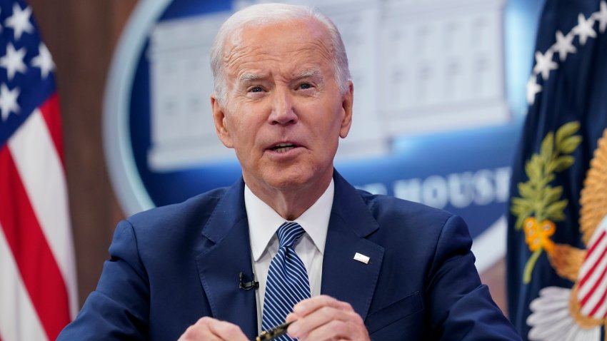
POLYGON ((428 283, 432 330, 438 340, 521 340, 481 284, 466 223, 448 218, 438 238, 428 283))

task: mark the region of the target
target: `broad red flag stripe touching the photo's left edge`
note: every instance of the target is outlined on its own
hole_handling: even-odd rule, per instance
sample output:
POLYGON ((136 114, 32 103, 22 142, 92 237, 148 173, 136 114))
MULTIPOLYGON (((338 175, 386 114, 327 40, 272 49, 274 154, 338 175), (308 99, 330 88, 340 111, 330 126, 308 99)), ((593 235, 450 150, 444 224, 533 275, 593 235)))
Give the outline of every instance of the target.
POLYGON ((0 224, 46 335, 55 340, 70 321, 64 279, 6 146, 0 165, 0 224))

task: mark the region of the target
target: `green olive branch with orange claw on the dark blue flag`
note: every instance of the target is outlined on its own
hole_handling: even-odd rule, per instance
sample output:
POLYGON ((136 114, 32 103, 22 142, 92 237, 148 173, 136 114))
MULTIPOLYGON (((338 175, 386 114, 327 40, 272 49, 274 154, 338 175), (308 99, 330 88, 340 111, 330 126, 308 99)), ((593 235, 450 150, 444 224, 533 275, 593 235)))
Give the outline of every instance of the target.
POLYGON ((531 257, 523 273, 523 283, 531 281, 531 273, 543 250, 550 254, 554 243, 551 236, 556 231, 555 221, 565 220, 563 210, 568 200, 561 200, 563 186, 551 186, 555 173, 573 166, 576 159, 569 155, 578 148, 582 137, 575 135, 580 128, 578 121, 563 124, 556 134, 552 131, 543 138, 540 153, 534 153, 525 164, 529 180, 518 183, 520 197, 512 198, 511 213, 516 215, 516 230, 523 228, 531 257))

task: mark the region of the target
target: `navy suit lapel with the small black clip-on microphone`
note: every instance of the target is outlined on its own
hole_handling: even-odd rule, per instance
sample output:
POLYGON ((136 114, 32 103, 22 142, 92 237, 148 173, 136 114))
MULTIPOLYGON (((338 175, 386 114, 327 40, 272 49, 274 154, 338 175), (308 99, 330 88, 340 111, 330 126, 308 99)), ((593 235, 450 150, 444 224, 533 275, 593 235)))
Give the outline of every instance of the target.
POLYGON ((245 335, 254 338, 255 290, 239 289, 239 273, 244 273, 246 281, 253 274, 242 180, 226 190, 202 231, 202 239, 196 263, 213 317, 239 325, 245 335))

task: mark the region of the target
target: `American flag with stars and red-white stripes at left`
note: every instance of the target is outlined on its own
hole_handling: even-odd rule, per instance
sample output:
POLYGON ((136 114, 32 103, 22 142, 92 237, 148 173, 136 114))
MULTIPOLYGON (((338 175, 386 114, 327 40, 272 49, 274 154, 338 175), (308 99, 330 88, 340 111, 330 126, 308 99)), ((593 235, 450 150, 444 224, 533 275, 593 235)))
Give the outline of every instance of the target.
POLYGON ((0 340, 55 340, 78 309, 54 62, 0 0, 0 340))

